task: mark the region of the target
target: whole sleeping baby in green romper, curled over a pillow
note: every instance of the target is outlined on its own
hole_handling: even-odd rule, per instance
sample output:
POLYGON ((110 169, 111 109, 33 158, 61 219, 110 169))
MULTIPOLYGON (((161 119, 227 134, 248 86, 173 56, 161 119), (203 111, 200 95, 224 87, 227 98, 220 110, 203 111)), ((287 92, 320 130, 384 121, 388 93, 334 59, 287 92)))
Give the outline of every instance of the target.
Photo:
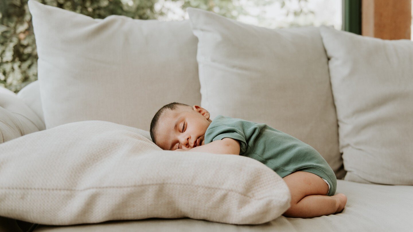
POLYGON ((347 203, 344 194, 335 195, 335 174, 316 149, 264 123, 221 115, 212 121, 202 107, 173 102, 157 111, 150 135, 164 150, 234 154, 265 164, 290 189, 286 217, 339 213, 347 203))

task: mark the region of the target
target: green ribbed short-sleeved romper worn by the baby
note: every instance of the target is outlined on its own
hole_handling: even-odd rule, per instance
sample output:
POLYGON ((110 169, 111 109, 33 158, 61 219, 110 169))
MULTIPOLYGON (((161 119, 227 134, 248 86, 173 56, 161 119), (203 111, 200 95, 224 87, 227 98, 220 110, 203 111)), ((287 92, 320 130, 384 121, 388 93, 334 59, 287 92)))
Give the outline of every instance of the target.
POLYGON ((204 144, 223 138, 238 140, 240 155, 260 161, 281 178, 295 171, 313 173, 328 182, 328 196, 335 194, 337 179, 333 170, 309 144, 264 123, 218 115, 207 128, 204 144))

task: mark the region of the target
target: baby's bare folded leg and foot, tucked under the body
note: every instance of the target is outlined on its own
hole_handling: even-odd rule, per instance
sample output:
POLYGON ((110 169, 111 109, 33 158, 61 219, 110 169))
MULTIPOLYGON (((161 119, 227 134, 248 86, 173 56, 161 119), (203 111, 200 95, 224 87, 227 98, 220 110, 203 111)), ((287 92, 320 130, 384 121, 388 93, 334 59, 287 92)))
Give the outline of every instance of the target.
POLYGON ((283 178, 291 192, 291 206, 283 214, 291 218, 314 218, 339 213, 347 203, 340 193, 326 196, 327 183, 318 175, 297 171, 283 178))

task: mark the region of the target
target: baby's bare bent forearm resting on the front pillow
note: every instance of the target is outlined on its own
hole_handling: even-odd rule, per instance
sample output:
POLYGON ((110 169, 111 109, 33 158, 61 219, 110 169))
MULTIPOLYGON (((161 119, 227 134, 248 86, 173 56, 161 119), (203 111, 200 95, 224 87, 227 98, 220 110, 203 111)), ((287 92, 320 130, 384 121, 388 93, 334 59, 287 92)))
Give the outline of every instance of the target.
POLYGON ((222 140, 215 140, 208 144, 194 147, 189 150, 176 149, 175 151, 191 151, 191 152, 208 152, 214 154, 240 154, 240 142, 231 138, 223 138, 222 140))

